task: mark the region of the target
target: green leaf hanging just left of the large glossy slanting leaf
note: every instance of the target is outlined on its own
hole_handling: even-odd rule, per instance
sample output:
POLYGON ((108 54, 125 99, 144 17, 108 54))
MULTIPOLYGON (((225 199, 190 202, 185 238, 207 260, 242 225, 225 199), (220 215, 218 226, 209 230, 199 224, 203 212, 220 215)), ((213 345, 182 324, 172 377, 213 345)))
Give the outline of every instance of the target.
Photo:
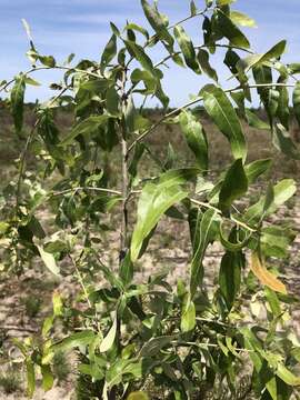
POLYGON ((208 170, 208 140, 200 121, 190 112, 183 111, 179 117, 181 130, 189 148, 196 156, 200 169, 208 170))

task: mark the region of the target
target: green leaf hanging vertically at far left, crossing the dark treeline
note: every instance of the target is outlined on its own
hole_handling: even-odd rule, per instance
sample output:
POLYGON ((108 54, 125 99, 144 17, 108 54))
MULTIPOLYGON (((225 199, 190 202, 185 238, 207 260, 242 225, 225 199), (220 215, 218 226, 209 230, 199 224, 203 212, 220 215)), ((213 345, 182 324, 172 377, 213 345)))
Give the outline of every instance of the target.
POLYGON ((26 81, 23 76, 16 78, 10 93, 11 112, 17 133, 22 130, 24 112, 26 81))

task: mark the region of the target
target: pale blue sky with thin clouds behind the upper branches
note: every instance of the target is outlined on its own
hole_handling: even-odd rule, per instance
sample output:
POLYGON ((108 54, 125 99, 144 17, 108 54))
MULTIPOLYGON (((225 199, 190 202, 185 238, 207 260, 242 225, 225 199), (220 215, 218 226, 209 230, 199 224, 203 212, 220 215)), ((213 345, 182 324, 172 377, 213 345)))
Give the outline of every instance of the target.
MULTIPOLYGON (((196 2, 199 8, 203 7, 203 0, 196 2)), ((159 6, 171 22, 189 12, 188 0, 160 0, 159 6)), ((289 44, 284 60, 300 61, 299 0, 238 0, 232 8, 256 19, 258 28, 246 30, 256 51, 263 52, 279 40, 287 39, 289 44)), ((0 80, 29 67, 24 56, 28 41, 21 24, 22 18, 31 26, 40 52, 53 54, 61 62, 70 52, 77 54, 77 60, 98 60, 111 33, 109 21, 119 27, 126 24, 126 19, 138 23, 144 21, 139 0, 0 0, 0 80)), ((186 27, 194 43, 200 43, 202 36, 199 20, 186 27)), ((156 51, 153 57, 160 60, 161 54, 156 51)), ((214 61, 220 64, 221 58, 217 57, 214 61)), ((222 69, 221 76, 227 78, 222 69)), ((38 78, 44 84, 39 89, 30 88, 28 100, 44 99, 49 94, 47 84, 58 79, 59 74, 40 72, 38 78)), ((171 103, 180 104, 189 94, 197 93, 204 82, 202 77, 172 67, 168 76, 166 73, 164 88, 171 103)))

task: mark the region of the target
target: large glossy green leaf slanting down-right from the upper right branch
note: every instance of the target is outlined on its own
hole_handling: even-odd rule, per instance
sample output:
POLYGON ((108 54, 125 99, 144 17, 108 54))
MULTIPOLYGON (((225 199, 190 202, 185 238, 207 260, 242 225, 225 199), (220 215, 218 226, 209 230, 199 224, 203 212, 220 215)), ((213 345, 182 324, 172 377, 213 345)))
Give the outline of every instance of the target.
POLYGON ((208 114, 230 142, 236 159, 247 157, 247 144, 240 120, 223 90, 208 84, 201 90, 208 114))

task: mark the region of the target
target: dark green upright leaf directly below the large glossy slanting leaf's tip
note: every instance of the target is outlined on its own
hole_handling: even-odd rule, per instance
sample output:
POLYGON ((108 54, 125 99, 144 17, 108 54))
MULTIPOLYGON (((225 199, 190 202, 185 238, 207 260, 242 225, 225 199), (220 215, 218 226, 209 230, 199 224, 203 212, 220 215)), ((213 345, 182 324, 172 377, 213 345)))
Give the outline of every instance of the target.
POLYGON ((243 169, 242 159, 236 160, 228 170, 219 196, 219 208, 226 212, 232 202, 248 190, 248 179, 243 169))

